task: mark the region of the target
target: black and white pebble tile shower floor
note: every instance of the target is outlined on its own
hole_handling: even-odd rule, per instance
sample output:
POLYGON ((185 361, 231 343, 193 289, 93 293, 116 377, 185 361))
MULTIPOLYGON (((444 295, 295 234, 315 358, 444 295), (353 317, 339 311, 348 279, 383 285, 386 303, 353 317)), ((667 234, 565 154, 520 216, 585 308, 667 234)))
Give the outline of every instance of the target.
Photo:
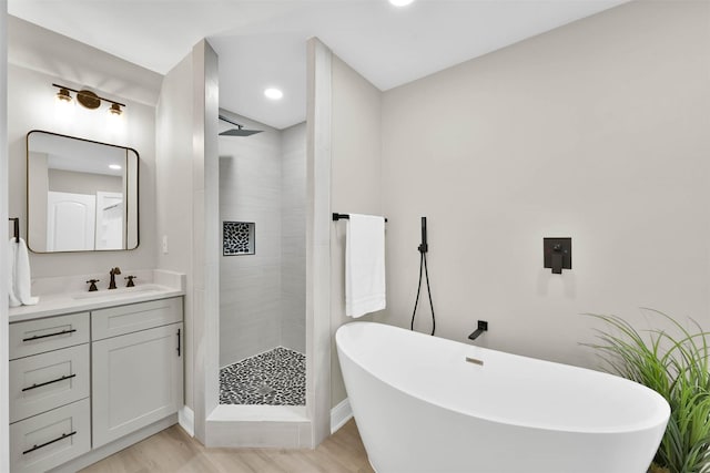
POLYGON ((220 370, 220 404, 305 405, 306 357, 287 348, 220 370))

